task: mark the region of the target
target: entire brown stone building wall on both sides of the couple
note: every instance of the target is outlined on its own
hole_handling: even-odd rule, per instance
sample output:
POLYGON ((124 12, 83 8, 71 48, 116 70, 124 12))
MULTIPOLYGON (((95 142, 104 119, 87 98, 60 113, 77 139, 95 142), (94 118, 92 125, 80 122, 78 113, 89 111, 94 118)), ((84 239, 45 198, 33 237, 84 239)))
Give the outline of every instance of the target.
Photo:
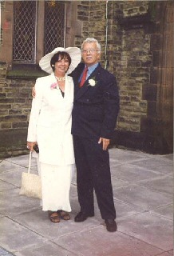
MULTIPOLYGON (((77 27, 70 28, 70 20, 67 22, 68 46, 73 38, 73 45, 79 47, 85 38, 97 38, 101 65, 117 77, 121 111, 113 146, 152 154, 172 152, 174 3, 72 1, 70 10, 77 11, 73 15, 77 27)), ((35 82, 35 78, 6 76, 6 70, 6 63, 1 62, 0 158, 27 153, 35 82)))

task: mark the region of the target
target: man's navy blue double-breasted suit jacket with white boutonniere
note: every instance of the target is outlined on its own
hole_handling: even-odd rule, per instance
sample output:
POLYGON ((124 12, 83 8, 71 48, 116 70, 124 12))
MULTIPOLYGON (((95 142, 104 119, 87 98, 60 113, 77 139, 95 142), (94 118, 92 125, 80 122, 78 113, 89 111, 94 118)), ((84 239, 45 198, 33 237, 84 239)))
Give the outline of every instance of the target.
POLYGON ((119 112, 119 94, 116 78, 99 64, 84 86, 79 78, 85 67, 80 63, 70 74, 74 82, 72 134, 85 138, 111 138, 119 112), (89 85, 93 79, 95 86, 89 85))

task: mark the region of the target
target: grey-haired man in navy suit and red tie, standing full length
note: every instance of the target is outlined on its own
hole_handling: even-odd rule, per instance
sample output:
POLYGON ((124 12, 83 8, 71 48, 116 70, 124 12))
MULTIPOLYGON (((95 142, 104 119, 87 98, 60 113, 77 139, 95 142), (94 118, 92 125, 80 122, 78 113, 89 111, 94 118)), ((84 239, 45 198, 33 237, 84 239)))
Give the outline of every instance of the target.
POLYGON ((106 229, 114 232, 117 223, 108 146, 119 112, 117 81, 101 67, 101 46, 96 39, 87 38, 82 43, 81 56, 85 63, 70 74, 75 86, 72 134, 81 206, 74 220, 84 222, 94 216, 94 189, 106 229))

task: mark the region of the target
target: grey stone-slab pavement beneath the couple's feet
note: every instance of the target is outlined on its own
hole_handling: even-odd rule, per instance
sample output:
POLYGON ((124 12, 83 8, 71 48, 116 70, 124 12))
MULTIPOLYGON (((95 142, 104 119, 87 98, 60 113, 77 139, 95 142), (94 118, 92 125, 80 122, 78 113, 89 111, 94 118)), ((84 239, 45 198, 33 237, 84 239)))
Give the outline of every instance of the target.
MULTIPOLYGON (((71 219, 49 221, 39 199, 19 195, 28 155, 0 162, 1 256, 171 256, 173 154, 152 155, 112 148, 110 165, 118 230, 109 233, 95 199, 95 216, 76 223, 76 175, 71 219)), ((37 171, 36 158, 32 170, 37 171)))

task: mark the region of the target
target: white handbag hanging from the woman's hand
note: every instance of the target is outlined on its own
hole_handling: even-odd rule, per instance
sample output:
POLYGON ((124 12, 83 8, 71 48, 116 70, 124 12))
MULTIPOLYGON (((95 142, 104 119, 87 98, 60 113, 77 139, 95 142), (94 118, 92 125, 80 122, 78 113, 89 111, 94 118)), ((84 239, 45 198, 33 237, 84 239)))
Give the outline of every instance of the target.
POLYGON ((26 195, 27 197, 30 197, 30 198, 42 199, 41 177, 37 174, 30 173, 31 155, 32 155, 32 151, 30 151, 30 155, 29 155, 28 172, 22 173, 21 190, 19 194, 26 195))

